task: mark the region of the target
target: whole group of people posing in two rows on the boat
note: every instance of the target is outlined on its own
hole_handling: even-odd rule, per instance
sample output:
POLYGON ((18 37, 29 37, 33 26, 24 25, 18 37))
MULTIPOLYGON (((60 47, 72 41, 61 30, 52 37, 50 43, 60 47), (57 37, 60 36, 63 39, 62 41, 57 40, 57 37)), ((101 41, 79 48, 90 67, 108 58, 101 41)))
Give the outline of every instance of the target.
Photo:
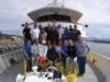
POLYGON ((46 27, 42 27, 42 25, 34 24, 34 27, 30 28, 25 23, 23 36, 26 71, 32 70, 32 59, 34 58, 36 66, 48 60, 53 61, 53 66, 55 66, 55 61, 61 61, 65 73, 68 73, 69 63, 73 61, 75 69, 79 70, 78 75, 86 72, 86 55, 89 47, 84 43, 85 39, 77 30, 77 25, 63 27, 61 24, 58 26, 48 24, 46 27))

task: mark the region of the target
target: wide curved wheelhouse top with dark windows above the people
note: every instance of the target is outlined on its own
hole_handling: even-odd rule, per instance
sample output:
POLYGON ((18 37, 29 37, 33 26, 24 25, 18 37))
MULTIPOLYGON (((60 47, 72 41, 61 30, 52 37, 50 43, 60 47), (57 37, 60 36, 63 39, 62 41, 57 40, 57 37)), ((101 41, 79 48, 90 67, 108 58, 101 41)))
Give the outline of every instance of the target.
POLYGON ((67 8, 42 8, 28 14, 34 22, 61 21, 77 23, 82 13, 67 8))

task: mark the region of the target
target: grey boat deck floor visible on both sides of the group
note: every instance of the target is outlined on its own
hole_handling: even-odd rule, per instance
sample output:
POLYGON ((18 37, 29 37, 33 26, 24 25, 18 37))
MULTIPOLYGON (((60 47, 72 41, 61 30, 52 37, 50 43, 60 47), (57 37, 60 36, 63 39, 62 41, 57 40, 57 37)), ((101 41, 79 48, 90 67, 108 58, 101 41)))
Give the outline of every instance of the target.
MULTIPOLYGON (((77 79, 77 82, 98 82, 96 74, 89 67, 89 65, 86 66, 86 74, 82 77, 79 77, 77 79)), ((0 82, 15 82, 15 78, 18 73, 21 73, 22 71, 22 62, 19 62, 16 65, 13 65, 8 70, 3 72, 3 74, 0 75, 0 82)))

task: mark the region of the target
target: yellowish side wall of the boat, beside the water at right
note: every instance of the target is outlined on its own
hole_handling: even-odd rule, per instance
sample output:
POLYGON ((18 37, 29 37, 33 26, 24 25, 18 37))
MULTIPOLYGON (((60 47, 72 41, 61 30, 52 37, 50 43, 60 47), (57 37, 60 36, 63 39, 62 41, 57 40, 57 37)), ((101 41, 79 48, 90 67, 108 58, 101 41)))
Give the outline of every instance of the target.
POLYGON ((97 52, 89 52, 87 59, 100 71, 106 79, 105 82, 110 82, 110 58, 97 52))

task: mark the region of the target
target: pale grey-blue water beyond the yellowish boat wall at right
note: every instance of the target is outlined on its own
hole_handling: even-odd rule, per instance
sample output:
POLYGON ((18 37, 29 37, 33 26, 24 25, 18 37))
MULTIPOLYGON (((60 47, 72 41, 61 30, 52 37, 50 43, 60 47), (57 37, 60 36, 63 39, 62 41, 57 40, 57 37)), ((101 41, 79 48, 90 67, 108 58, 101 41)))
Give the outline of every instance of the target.
POLYGON ((87 42, 91 51, 110 57, 110 44, 87 42))

